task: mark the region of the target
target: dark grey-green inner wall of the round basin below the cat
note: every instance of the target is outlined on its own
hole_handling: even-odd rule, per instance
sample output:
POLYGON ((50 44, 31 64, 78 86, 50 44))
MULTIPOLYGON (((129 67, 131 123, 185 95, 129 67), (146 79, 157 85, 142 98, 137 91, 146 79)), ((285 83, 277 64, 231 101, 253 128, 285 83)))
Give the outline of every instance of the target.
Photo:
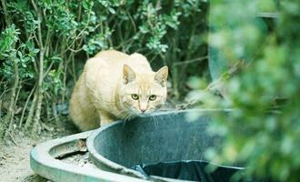
POLYGON ((208 147, 221 139, 207 131, 211 113, 195 121, 186 116, 195 111, 147 116, 111 126, 95 136, 96 151, 125 166, 165 161, 203 160, 208 147))

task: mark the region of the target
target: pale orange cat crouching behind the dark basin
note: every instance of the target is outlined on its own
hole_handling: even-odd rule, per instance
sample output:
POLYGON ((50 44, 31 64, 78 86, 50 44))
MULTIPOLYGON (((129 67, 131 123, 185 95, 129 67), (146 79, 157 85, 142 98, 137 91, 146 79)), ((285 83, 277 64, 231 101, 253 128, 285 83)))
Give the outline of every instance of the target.
POLYGON ((165 104, 168 67, 154 72, 138 53, 98 53, 85 63, 73 90, 69 113, 82 131, 115 120, 148 115, 165 104))

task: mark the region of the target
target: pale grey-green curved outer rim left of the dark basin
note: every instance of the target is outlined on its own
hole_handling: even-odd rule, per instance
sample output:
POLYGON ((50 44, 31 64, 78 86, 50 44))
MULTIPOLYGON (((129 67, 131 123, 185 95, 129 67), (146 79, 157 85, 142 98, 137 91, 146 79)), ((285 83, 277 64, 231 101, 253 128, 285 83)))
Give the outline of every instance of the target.
MULTIPOLYGON (((72 164, 67 164, 58 159, 55 159, 53 155, 50 154, 51 150, 55 147, 66 147, 68 144, 86 139, 95 130, 75 134, 72 136, 65 136, 62 138, 57 138, 54 140, 46 141, 42 144, 34 147, 30 153, 30 166, 35 171, 36 174, 54 180, 54 181, 64 181, 64 182, 94 182, 94 181, 133 181, 142 182, 143 179, 135 177, 127 177, 120 174, 115 174, 112 172, 107 172, 97 168, 83 168, 77 167, 72 164)), ((76 148, 75 148, 76 149, 76 148)), ((77 148, 78 149, 78 148, 77 148)), ((69 149, 70 151, 70 149, 69 149)), ((65 154, 55 154, 55 155, 65 155, 65 154)))

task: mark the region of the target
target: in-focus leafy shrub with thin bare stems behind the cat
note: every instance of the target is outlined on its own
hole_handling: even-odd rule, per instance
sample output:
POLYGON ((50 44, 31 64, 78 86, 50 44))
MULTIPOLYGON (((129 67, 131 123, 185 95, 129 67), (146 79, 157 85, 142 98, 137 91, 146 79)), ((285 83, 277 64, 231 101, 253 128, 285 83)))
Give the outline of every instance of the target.
POLYGON ((171 96, 185 96, 187 77, 207 73, 198 71, 206 9, 205 0, 1 0, 2 128, 57 122, 85 60, 109 48, 140 52, 155 70, 169 66, 171 96))

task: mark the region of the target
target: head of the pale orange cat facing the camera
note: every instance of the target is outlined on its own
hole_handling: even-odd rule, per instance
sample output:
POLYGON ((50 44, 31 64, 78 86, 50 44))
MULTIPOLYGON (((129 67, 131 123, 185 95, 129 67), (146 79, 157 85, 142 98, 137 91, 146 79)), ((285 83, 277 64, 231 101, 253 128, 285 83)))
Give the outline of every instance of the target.
POLYGON ((139 73, 125 65, 123 85, 119 93, 122 106, 135 116, 150 114, 163 106, 167 75, 167 66, 157 72, 139 73))

